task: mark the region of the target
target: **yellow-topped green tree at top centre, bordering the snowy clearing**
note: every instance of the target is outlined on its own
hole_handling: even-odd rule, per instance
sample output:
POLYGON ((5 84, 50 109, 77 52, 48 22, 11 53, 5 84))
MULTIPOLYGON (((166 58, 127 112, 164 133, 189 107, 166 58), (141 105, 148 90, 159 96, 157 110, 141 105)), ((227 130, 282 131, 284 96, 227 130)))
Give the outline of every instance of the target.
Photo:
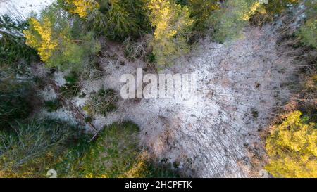
POLYGON ((149 20, 155 28, 150 45, 160 68, 189 51, 187 40, 194 21, 190 18, 187 6, 180 6, 170 0, 145 1, 149 20))

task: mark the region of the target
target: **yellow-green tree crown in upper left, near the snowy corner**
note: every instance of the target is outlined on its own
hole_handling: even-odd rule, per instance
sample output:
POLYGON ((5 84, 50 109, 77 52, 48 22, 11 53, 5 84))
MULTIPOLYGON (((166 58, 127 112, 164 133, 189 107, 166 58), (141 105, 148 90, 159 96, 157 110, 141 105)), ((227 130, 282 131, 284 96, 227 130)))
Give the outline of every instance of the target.
POLYGON ((26 44, 37 50, 47 67, 76 70, 100 49, 92 32, 85 32, 80 21, 68 17, 56 4, 44 9, 39 18, 30 18, 29 24, 23 30, 26 44))

